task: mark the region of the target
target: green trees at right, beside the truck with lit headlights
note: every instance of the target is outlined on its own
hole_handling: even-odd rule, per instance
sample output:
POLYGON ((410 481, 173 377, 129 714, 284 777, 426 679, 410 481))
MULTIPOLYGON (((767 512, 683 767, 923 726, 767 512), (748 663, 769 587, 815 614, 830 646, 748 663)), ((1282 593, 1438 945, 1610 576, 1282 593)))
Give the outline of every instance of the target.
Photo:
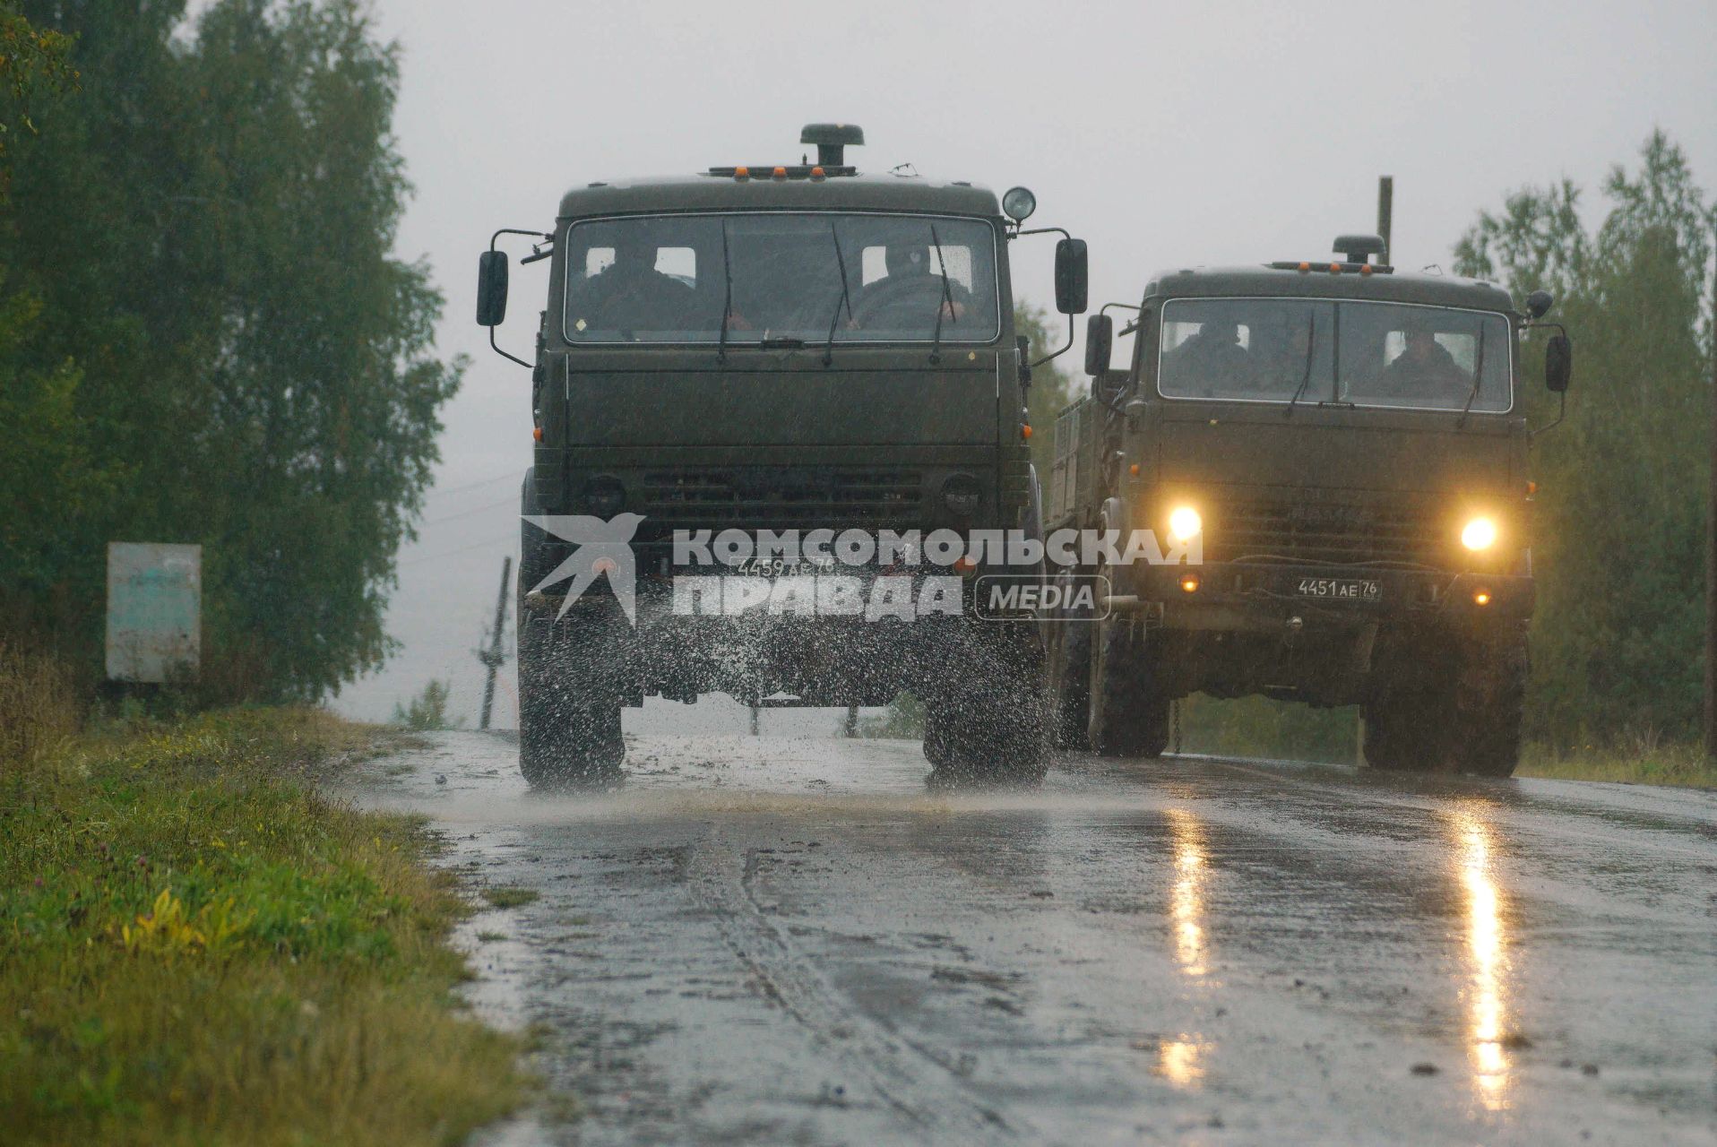
MULTIPOLYGON (((1559 745, 1690 735, 1700 716, 1717 211, 1662 132, 1640 155, 1611 172, 1592 234, 1562 180, 1482 213, 1456 246, 1463 275, 1556 292, 1576 347, 1568 422, 1535 440, 1528 725, 1559 745)), ((1530 391, 1533 424, 1552 414, 1530 391)))

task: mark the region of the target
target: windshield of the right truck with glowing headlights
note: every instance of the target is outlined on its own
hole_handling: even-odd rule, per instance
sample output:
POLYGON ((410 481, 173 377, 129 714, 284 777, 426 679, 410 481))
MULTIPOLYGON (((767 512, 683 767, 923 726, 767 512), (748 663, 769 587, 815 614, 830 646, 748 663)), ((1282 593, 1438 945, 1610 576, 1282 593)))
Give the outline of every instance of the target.
POLYGON ((1162 306, 1168 398, 1509 410, 1508 319, 1487 311, 1314 299, 1162 306), (1470 404, 1470 405, 1468 405, 1470 404))

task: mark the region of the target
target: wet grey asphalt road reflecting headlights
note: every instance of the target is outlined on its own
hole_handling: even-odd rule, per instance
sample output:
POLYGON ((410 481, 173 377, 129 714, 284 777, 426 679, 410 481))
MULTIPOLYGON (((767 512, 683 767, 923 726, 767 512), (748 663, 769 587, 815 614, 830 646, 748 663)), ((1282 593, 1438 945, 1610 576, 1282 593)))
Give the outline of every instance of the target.
POLYGON ((486 1142, 1717 1142, 1714 793, 628 740, 604 795, 484 733, 359 790, 541 893, 460 938, 584 1116, 486 1142))

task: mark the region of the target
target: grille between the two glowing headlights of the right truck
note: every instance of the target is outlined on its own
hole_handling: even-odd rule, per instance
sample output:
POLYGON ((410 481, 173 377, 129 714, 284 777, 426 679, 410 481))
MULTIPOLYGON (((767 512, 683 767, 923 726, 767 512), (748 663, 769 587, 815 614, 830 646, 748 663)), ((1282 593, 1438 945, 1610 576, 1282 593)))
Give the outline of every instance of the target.
POLYGON ((1427 505, 1233 500, 1212 510, 1205 561, 1447 563, 1446 522, 1427 505))

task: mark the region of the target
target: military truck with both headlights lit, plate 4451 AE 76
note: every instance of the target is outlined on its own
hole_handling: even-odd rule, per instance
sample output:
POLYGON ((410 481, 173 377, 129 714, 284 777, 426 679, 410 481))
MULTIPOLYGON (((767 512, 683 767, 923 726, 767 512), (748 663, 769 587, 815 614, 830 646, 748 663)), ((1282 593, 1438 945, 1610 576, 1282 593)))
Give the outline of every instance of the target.
MULTIPOLYGON (((1089 319, 1092 391, 1058 419, 1046 527, 1150 529, 1190 560, 1083 570, 1111 594, 1054 628, 1061 743, 1152 757, 1173 701, 1262 694, 1360 706, 1374 768, 1513 773, 1533 610, 1520 347, 1561 328, 1537 323, 1544 292, 1521 313, 1382 247, 1164 271, 1126 307, 1125 371, 1114 304, 1089 319)), ((1562 331, 1562 402, 1569 371, 1562 331)))

